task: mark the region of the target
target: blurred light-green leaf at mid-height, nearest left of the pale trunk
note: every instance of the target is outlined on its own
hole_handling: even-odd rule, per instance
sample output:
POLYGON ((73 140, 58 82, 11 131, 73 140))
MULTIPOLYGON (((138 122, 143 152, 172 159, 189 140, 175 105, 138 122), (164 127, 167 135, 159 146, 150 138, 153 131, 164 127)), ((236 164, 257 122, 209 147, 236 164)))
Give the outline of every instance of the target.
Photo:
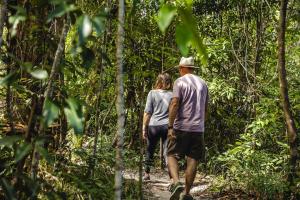
POLYGON ((68 107, 64 108, 67 120, 74 132, 76 134, 81 134, 83 132, 83 116, 82 116, 82 107, 79 103, 73 99, 69 98, 66 100, 68 107))

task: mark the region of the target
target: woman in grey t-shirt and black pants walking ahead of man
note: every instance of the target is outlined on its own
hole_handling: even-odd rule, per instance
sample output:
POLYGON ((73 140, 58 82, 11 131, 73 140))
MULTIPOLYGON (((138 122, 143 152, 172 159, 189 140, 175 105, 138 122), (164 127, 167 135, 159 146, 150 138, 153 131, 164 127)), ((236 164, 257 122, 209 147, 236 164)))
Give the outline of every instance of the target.
POLYGON ((153 165, 155 147, 160 138, 162 138, 163 155, 167 163, 168 108, 172 97, 171 85, 172 80, 169 74, 159 74, 154 89, 147 96, 143 119, 143 138, 147 140, 143 180, 150 180, 150 167, 153 165))

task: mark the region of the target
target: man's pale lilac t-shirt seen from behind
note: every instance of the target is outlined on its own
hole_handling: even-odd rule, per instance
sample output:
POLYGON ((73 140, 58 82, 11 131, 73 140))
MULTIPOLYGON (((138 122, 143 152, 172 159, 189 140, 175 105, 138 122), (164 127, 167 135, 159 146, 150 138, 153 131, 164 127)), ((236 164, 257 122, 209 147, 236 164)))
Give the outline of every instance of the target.
POLYGON ((204 132, 207 95, 205 81, 196 75, 186 74, 175 81, 173 97, 179 98, 179 108, 174 129, 204 132))

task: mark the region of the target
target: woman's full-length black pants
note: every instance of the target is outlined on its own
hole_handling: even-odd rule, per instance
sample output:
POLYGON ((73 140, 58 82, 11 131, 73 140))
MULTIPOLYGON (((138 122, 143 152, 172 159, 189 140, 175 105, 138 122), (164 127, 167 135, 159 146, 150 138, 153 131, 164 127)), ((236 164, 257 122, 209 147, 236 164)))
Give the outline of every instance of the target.
POLYGON ((147 137, 147 149, 146 149, 146 160, 145 160, 145 171, 150 172, 150 167, 153 166, 153 158, 155 147, 162 138, 163 142, 163 155, 165 163, 167 163, 167 135, 168 135, 168 125, 161 126, 149 126, 148 127, 148 137, 147 137))

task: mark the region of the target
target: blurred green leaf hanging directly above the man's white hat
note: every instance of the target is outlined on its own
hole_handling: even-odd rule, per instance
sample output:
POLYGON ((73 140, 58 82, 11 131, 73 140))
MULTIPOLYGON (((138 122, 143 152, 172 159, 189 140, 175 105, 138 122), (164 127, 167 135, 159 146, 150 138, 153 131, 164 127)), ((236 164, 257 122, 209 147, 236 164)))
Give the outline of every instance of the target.
POLYGON ((189 53, 189 44, 193 35, 184 24, 178 24, 176 26, 176 43, 183 56, 187 56, 189 53))

